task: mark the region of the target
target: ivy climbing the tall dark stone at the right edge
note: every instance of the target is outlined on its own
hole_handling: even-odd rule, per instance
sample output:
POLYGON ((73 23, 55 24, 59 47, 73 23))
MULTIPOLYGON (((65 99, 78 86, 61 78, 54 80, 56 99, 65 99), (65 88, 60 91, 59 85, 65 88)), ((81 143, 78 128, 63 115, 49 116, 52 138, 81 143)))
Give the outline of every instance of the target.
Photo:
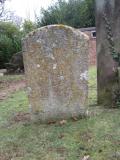
MULTIPOLYGON (((105 7, 110 8, 110 4, 106 1, 105 7)), ((103 12, 103 19, 105 22, 105 29, 106 29, 106 38, 109 44, 109 53, 112 56, 113 60, 117 63, 118 66, 120 66, 120 52, 117 51, 115 48, 115 42, 113 38, 113 31, 112 31, 112 24, 110 19, 108 18, 106 12, 103 12)), ((119 69, 116 69, 116 83, 115 86, 113 86, 112 89, 112 107, 120 107, 120 75, 119 75, 119 69)))

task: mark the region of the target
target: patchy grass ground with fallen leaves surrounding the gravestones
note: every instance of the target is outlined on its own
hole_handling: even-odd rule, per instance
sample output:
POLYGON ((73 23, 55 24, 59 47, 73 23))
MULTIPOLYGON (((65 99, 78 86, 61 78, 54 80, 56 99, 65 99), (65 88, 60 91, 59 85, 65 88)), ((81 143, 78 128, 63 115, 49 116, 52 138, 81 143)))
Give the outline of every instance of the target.
POLYGON ((95 67, 89 77, 94 116, 44 125, 30 121, 24 76, 0 77, 0 160, 119 160, 120 109, 96 105, 95 67))

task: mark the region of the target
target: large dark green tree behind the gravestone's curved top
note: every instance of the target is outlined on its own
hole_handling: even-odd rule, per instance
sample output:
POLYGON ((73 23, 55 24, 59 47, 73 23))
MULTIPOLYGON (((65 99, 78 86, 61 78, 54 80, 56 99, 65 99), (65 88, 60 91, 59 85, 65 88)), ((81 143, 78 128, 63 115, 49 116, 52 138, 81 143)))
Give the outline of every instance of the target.
POLYGON ((65 24, 72 27, 95 26, 94 0, 58 0, 48 9, 42 9, 42 18, 37 17, 38 26, 65 24))

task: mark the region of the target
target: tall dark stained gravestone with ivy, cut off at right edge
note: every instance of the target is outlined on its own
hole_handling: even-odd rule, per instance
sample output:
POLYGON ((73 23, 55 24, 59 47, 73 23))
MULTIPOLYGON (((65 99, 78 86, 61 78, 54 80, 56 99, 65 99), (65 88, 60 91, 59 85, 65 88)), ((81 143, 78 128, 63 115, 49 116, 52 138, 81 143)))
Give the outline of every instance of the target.
POLYGON ((118 92, 120 0, 96 0, 98 102, 114 105, 118 92))

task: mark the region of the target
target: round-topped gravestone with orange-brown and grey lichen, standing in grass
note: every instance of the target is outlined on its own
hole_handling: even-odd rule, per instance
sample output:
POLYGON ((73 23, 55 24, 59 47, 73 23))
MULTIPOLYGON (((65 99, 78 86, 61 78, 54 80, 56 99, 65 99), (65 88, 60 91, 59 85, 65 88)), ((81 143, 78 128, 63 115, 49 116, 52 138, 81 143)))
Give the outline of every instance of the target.
POLYGON ((30 109, 41 122, 85 113, 88 37, 64 25, 42 27, 23 40, 30 109))

